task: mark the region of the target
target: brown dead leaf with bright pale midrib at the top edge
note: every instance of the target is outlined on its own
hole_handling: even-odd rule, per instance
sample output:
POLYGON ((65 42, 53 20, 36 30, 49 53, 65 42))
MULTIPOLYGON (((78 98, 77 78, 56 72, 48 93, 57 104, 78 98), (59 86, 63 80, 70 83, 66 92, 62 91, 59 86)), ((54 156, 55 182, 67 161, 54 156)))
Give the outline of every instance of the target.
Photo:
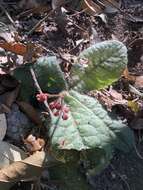
POLYGON ((85 9, 90 15, 98 15, 103 12, 103 7, 97 5, 93 0, 84 0, 82 3, 82 9, 85 9))

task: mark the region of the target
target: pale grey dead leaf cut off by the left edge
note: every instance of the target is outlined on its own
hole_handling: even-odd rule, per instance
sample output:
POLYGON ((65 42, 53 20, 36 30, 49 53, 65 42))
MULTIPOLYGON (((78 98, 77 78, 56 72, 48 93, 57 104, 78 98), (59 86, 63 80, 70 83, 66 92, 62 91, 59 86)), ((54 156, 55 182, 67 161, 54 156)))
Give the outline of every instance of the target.
POLYGON ((5 114, 0 114, 0 140, 3 140, 7 130, 7 122, 5 114))

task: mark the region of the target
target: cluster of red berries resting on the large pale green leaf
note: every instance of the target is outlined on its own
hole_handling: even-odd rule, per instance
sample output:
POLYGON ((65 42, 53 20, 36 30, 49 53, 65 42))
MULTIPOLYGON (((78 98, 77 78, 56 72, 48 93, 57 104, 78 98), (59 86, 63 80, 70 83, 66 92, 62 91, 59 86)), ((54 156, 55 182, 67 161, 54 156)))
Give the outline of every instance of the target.
POLYGON ((68 119, 69 108, 64 105, 62 106, 60 101, 54 101, 49 104, 50 109, 53 111, 54 116, 59 116, 62 114, 62 119, 68 119))

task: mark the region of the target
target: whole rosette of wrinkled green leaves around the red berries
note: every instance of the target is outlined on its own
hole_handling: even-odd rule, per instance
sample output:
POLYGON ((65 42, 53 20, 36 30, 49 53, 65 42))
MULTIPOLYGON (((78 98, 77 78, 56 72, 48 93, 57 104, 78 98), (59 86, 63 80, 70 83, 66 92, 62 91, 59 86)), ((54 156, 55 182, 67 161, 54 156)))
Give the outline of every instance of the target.
MULTIPOLYGON (((63 99, 70 109, 68 119, 52 115, 49 127, 53 153, 56 159, 63 162, 62 168, 65 167, 63 170, 56 167, 57 179, 63 179, 66 183, 61 189, 76 190, 76 180, 71 177, 78 178, 81 163, 86 174, 99 173, 109 164, 115 149, 125 152, 132 149, 134 136, 127 124, 109 114, 95 98, 77 92, 101 89, 112 84, 121 76, 126 65, 127 50, 118 41, 101 42, 87 48, 80 54, 79 62, 75 63, 72 75, 74 90, 67 91, 63 99), (59 172, 62 175, 58 175, 59 172), (73 185, 68 182, 69 179, 73 185)), ((43 91, 58 93, 67 90, 55 57, 40 58, 33 69, 43 91)), ((31 80, 25 83, 26 76, 22 83, 27 86, 31 80)), ((54 172, 53 168, 51 176, 54 172)), ((80 179, 78 189, 88 189, 83 188, 85 180, 80 179)))

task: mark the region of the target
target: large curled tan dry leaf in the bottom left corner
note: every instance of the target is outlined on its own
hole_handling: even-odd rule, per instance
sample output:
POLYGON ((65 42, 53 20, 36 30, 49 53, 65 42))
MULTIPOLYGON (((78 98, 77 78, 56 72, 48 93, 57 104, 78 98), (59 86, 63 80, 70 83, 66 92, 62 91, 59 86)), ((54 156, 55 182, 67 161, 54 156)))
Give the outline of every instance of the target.
POLYGON ((7 186, 18 181, 36 180, 40 177, 43 167, 50 167, 57 163, 55 159, 44 151, 37 151, 30 157, 16 161, 0 170, 0 187, 5 190, 7 186))

